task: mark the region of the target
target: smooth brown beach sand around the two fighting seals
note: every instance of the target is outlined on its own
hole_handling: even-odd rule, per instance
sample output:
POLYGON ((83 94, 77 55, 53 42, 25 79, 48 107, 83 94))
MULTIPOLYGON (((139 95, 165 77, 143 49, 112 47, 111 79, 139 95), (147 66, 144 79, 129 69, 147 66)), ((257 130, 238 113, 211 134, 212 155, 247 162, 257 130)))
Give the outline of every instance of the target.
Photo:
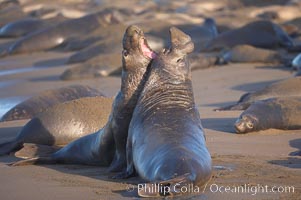
MULTIPOLYGON (((85 83, 113 96, 119 89, 119 77, 83 81, 60 81, 58 76, 66 69, 60 62, 68 54, 39 53, 8 57, 7 68, 34 66, 33 71, 0 75, 0 99, 31 96, 35 93, 74 83, 85 83), (46 60, 46 61, 45 61, 46 60), (56 67, 43 67, 57 61, 56 67), (59 62, 60 61, 60 62, 59 62), (37 63, 42 63, 38 66, 37 63)), ((22 69, 22 68, 20 68, 22 69)), ((238 135, 233 123, 240 111, 214 112, 219 106, 235 102, 240 95, 258 90, 265 85, 291 77, 285 68, 262 64, 231 64, 193 72, 193 87, 197 105, 207 136, 207 145, 218 169, 204 194, 192 199, 300 199, 301 158, 290 156, 301 149, 301 131, 267 130, 238 135), (221 169, 220 169, 221 168, 221 169), (293 186, 294 193, 247 194, 213 192, 216 185, 293 186)), ((16 101, 18 98, 16 98, 16 101)), ((14 102, 12 102, 14 103, 14 102)), ((0 124, 0 140, 17 134, 24 121, 0 124)), ((136 191, 127 192, 128 186, 143 183, 138 178, 115 181, 108 178, 105 168, 75 165, 44 165, 9 167, 14 156, 0 157, 1 199, 133 199, 136 191), (131 185, 132 184, 132 185, 131 185)), ((188 198, 188 196, 187 196, 188 198)))

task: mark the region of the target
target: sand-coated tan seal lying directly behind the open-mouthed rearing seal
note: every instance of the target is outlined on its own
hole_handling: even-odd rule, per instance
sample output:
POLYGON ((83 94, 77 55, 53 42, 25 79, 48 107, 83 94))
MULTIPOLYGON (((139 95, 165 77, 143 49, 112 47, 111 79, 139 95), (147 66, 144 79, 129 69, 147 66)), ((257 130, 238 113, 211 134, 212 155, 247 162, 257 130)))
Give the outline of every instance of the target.
POLYGON ((0 144, 0 155, 22 148, 23 143, 66 145, 102 128, 113 99, 86 97, 58 104, 38 113, 16 138, 0 144))

